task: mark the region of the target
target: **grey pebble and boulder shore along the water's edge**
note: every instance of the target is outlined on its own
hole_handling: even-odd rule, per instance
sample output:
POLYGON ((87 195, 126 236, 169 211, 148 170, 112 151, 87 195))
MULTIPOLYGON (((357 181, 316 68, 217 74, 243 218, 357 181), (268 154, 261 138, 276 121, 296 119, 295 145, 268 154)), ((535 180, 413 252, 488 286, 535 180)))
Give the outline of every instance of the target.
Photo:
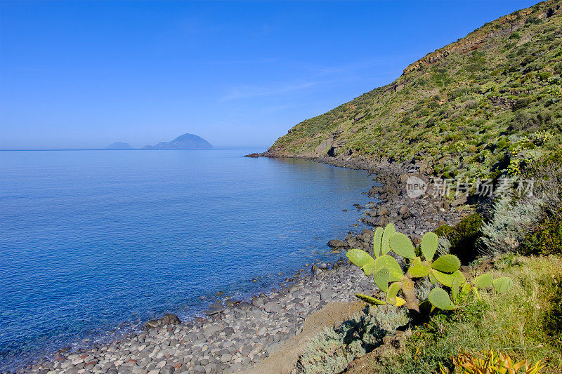
MULTIPOLYGON (((409 175, 423 177, 423 167, 358 158, 315 161, 373 173, 375 185, 365 192, 373 202, 356 206, 368 227, 393 222, 415 242, 424 232, 445 222, 455 224, 468 213, 440 199, 412 199, 405 194, 405 181, 409 175)), ((364 229, 329 241, 341 253, 339 260, 309 265, 268 294, 250 300, 225 297, 210 305, 205 318, 195 321, 181 322, 166 314, 146 323, 141 332, 77 352, 63 349, 52 360, 21 368, 18 373, 235 373, 259 367, 284 342, 301 333, 313 312, 329 302, 354 301, 355 293, 369 293, 375 287, 371 278, 344 258, 348 248, 372 251, 372 237, 372 229, 364 229)))

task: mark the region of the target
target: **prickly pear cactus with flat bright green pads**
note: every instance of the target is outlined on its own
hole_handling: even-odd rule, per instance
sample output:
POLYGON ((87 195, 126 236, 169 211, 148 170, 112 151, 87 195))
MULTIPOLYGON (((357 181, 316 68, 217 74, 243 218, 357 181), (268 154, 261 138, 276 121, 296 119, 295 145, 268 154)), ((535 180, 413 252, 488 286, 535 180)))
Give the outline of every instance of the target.
POLYGON ((469 293, 481 300, 478 289, 493 286, 498 293, 505 293, 513 286, 513 281, 508 277, 493 279, 490 274, 481 274, 472 281, 466 278, 459 268, 461 262, 455 255, 442 255, 435 260, 438 247, 438 236, 433 232, 426 233, 421 239, 420 251, 423 255, 416 255, 412 241, 400 232, 396 232, 394 225, 389 223, 384 229, 378 227, 374 232, 373 251, 375 258, 360 249, 351 249, 347 257, 353 264, 361 267, 365 275, 373 276, 374 283, 386 293, 385 300, 372 296, 356 294, 360 300, 373 305, 405 305, 410 311, 420 312, 422 309, 432 311, 435 308, 452 310, 468 297, 469 293), (409 262, 404 273, 398 261, 391 255, 396 253, 409 262), (443 285, 449 289, 433 288, 428 295, 428 300, 419 302, 414 290, 414 279, 428 276, 431 283, 443 285), (401 292, 402 297, 398 295, 401 292))

